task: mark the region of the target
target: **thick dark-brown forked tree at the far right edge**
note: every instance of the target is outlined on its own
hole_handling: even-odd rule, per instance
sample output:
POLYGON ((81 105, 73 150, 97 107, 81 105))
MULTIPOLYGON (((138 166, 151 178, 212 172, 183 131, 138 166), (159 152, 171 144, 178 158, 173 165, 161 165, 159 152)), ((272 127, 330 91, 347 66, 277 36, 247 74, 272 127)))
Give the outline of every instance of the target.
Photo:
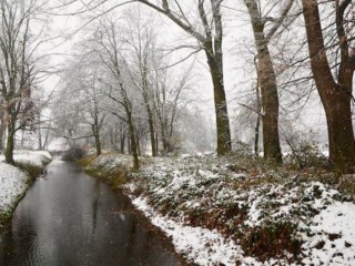
POLYGON ((335 0, 334 20, 339 51, 335 74, 328 61, 327 48, 322 30, 322 21, 317 0, 302 0, 303 16, 311 57, 311 68, 320 93, 327 121, 329 161, 343 172, 354 171, 355 140, 352 123, 352 93, 355 70, 355 53, 351 45, 345 24, 346 10, 353 6, 352 0, 335 0))

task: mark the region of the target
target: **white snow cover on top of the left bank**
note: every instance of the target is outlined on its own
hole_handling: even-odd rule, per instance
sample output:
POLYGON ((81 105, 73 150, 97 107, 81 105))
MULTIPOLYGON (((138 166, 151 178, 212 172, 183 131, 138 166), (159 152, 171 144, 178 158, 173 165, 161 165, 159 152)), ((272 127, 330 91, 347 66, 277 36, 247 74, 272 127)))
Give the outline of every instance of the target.
MULTIPOLYGON (((14 161, 29 162, 43 166, 51 160, 48 152, 16 151, 14 161)), ((0 156, 0 212, 12 209, 18 198, 28 187, 28 176, 19 168, 6 164, 3 155, 0 156)))

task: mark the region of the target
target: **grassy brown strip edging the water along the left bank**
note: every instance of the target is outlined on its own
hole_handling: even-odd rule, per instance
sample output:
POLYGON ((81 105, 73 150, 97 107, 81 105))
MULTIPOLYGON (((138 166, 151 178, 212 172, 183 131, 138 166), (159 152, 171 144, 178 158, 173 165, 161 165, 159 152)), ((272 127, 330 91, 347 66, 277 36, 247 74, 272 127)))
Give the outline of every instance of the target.
POLYGON ((8 207, 8 209, 6 211, 0 209, 0 235, 7 232, 7 229, 9 228, 13 212, 19 205, 19 203, 21 202, 21 200, 26 196, 27 191, 33 185, 33 183, 38 177, 45 175, 45 167, 52 161, 53 161, 52 157, 45 157, 42 160, 42 165, 37 165, 34 163, 24 162, 24 161, 17 161, 14 165, 11 165, 17 167, 27 176, 26 188, 21 194, 18 194, 11 201, 12 204, 11 206, 8 207))

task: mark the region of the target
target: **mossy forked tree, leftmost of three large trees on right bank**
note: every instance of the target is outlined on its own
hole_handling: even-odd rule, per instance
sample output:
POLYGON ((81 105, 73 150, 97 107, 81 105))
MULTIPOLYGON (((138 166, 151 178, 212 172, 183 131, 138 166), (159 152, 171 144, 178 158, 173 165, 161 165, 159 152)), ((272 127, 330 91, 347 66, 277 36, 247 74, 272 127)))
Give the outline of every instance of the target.
POLYGON ((183 4, 178 1, 162 0, 155 4, 149 0, 135 0, 166 16, 182 30, 193 37, 205 52, 213 82, 215 120, 217 132, 217 154, 224 155, 232 149, 230 119, 223 75, 223 24, 221 4, 223 0, 197 0, 194 3, 200 23, 189 20, 183 4))

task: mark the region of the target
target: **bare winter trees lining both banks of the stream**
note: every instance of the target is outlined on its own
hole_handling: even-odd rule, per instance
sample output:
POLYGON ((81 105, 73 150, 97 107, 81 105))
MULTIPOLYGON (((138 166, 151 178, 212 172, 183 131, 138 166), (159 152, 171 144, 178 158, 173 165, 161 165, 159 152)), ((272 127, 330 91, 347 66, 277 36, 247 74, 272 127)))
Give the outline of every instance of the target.
MULTIPOLYGON (((20 4, 21 1, 16 1, 20 4)), ((34 2, 34 0, 33 0, 34 2)), ((57 9, 70 7, 77 1, 61 2, 57 9)), ((179 111, 184 112, 180 105, 185 105, 189 100, 183 99, 184 90, 191 85, 191 69, 178 74, 170 71, 170 62, 166 62, 165 54, 160 53, 160 43, 156 24, 140 24, 143 18, 131 18, 130 22, 121 21, 110 10, 141 4, 146 9, 160 13, 170 22, 185 32, 192 40, 186 41, 186 47, 193 48, 195 53, 202 52, 207 62, 210 80, 213 86, 214 114, 216 124, 216 152, 225 155, 232 151, 231 121, 229 114, 229 102, 225 92, 225 65, 224 65, 224 32, 226 12, 229 16, 237 17, 236 11, 243 10, 247 13, 251 29, 253 31, 255 51, 256 82, 254 86, 256 108, 252 108, 257 115, 257 123, 262 126, 262 143, 264 160, 281 164, 283 161, 280 141, 280 95, 283 90, 298 86, 291 84, 301 82, 303 86, 316 88, 323 104, 329 145, 329 163, 343 171, 352 172, 355 164, 355 140, 352 121, 353 110, 353 75, 354 75, 354 3, 351 0, 334 0, 321 2, 317 0, 287 0, 287 1, 264 1, 264 0, 134 0, 114 1, 113 6, 106 6, 106 1, 81 1, 83 6, 73 13, 95 11, 94 19, 85 40, 81 41, 81 54, 70 62, 70 71, 64 72, 67 91, 73 95, 75 101, 88 99, 85 106, 78 103, 78 112, 81 112, 82 120, 90 124, 91 135, 94 137, 98 154, 100 154, 100 126, 105 120, 115 119, 119 122, 111 129, 111 135, 124 127, 130 139, 130 150, 134 156, 134 165, 139 166, 138 155, 140 150, 140 134, 144 131, 149 134, 152 155, 156 155, 159 144, 162 143, 164 151, 172 150, 173 129, 179 111), (226 11, 227 10, 227 11, 226 11), (233 11, 235 10, 235 13, 233 11), (99 14, 98 14, 99 13, 99 14), (297 49, 291 51, 287 43, 281 50, 278 47, 283 35, 287 32, 297 31, 300 35, 300 51, 307 48, 303 59, 297 57, 297 49), (164 61, 165 60, 165 61, 164 61), (281 66, 278 63, 283 62, 281 66), (308 71, 308 72, 307 72, 308 71), (282 84, 281 74, 287 74, 287 81, 282 84), (300 73, 307 73, 308 79, 300 78, 300 73), (174 81, 174 82, 172 82, 174 81), (293 82, 293 83, 292 83, 293 82), (84 111, 81 109, 85 109, 84 111), (142 124, 145 124, 144 126, 142 124), (142 129, 140 129, 140 126, 142 129)), ((9 1, 2 0, 9 6, 9 1)), ((23 3, 24 4, 24 1, 23 3)), ((78 4, 78 2, 77 2, 78 4)), ((6 9, 8 10, 8 9, 6 9)), ((12 18, 12 14, 3 13, 4 18, 12 18)), ((129 17, 123 14, 122 17, 129 17)), ((21 21, 21 20, 20 20, 21 21)), ((128 19, 126 19, 128 21, 128 19)), ((7 21, 2 21, 7 25, 7 21)), ((168 23, 168 22, 166 22, 168 23)), ((23 21, 21 29, 26 29, 23 21)), ((2 28, 1 38, 6 37, 2 28)), ((27 40, 28 33, 21 30, 21 40, 14 43, 20 45, 27 40)), ((7 38, 11 38, 7 37, 7 38)), ((285 40, 285 39, 284 39, 285 40)), ((2 42, 0 43, 2 44, 2 42)), ((23 50, 23 49, 22 49, 23 50)), ((24 49, 26 50, 26 49, 24 49)), ((21 49, 16 50, 18 54, 21 49)), ((7 59, 10 52, 2 49, 2 62, 7 66, 7 59)), ((302 54, 302 52, 300 52, 302 54)), ((19 55, 21 59, 21 57, 19 55)), ((30 64, 21 64, 16 68, 16 78, 30 76, 30 64), (26 66, 23 66, 26 65, 26 66)), ((2 68, 3 69, 3 68, 2 68)), ((11 68, 10 68, 11 69, 11 68)), ((13 68, 12 68, 13 69, 13 68)), ((9 89, 16 89, 22 93, 28 88, 28 81, 23 80, 13 85, 10 72, 1 79, 3 106, 6 116, 11 121, 20 121, 17 117, 16 104, 24 102, 18 100, 13 93, 7 93, 9 89), (2 82, 3 83, 3 82, 2 82)), ((24 78, 28 79, 28 78, 24 78)), ((65 91, 65 90, 64 90, 65 91)), ((67 94, 63 93, 63 98, 67 94)), ((297 93, 291 91, 291 93, 297 93)), ((58 110, 63 108, 58 104, 58 110)), ((251 109, 250 106, 246 106, 251 109)), ((26 108, 22 106, 22 110, 26 108)), ((64 113, 63 110, 58 113, 64 113)), ((185 112, 186 109, 185 109, 185 112)), ((65 116, 65 115, 63 115, 65 116)), ((10 121, 10 120, 9 120, 10 121)), ((59 123, 59 122, 58 122, 59 123)), ((8 123, 8 142, 11 150, 11 132, 14 125, 8 123)), ((78 124, 73 122, 74 130, 78 124)), ((80 127, 80 126, 79 126, 80 127)), ((78 137, 70 130, 65 133, 70 139, 78 137)), ((122 134, 121 134, 122 137, 122 134)), ((112 137, 113 139, 113 137, 112 137)), ((122 140, 121 140, 122 141, 122 140)), ((255 146, 256 146, 255 142, 255 146)), ((8 152, 7 152, 8 153, 8 152)), ((11 162, 12 155, 9 152, 11 162)))

